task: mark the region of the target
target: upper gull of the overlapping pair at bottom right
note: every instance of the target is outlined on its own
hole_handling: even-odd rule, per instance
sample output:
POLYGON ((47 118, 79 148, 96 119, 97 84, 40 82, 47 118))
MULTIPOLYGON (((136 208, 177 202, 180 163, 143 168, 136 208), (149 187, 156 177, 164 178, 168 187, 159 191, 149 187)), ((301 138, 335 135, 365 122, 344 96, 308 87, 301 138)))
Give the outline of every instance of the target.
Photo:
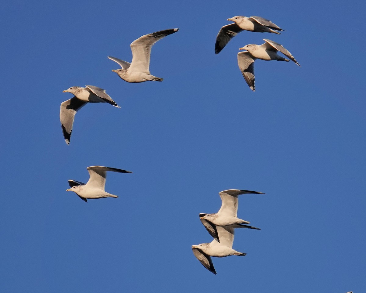
MULTIPOLYGON (((202 220, 209 221, 213 225, 217 226, 230 226, 234 224, 249 224, 250 222, 238 218, 238 196, 241 194, 265 194, 258 191, 241 190, 241 189, 228 189, 221 191, 221 208, 215 214, 199 214, 201 222, 202 220)), ((211 224, 202 222, 207 231, 213 236, 215 234, 214 229, 210 228, 211 224)), ((251 226, 250 226, 251 227, 251 226)), ((235 226, 235 228, 239 228, 235 226)), ((251 228, 258 229, 258 228, 251 228)), ((217 233, 216 233, 217 234, 217 233)), ((213 236, 214 237, 214 236, 213 236)), ((220 239, 220 237, 219 237, 220 239)))

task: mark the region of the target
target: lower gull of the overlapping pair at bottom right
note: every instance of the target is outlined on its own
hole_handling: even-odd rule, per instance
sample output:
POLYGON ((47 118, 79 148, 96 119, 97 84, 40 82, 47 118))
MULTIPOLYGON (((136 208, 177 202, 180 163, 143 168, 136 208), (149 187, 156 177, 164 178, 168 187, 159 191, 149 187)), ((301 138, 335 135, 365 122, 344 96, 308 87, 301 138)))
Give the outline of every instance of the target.
POLYGON ((234 228, 231 226, 217 226, 217 234, 219 235, 220 242, 217 239, 212 240, 210 243, 202 243, 198 245, 192 245, 192 251, 195 257, 207 268, 210 272, 216 275, 215 268, 213 267, 211 256, 225 257, 230 255, 245 256, 246 253, 238 252, 232 249, 232 242, 234 241, 234 228))

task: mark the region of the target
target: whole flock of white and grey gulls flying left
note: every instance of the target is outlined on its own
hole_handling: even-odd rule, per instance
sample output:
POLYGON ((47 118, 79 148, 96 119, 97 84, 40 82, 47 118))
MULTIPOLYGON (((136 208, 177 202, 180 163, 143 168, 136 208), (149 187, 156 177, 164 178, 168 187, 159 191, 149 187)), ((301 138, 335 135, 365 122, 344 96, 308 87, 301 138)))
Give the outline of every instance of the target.
MULTIPOLYGON (((216 37, 215 53, 220 53, 228 42, 243 30, 259 32, 259 33, 275 33, 280 34, 283 31, 275 23, 259 16, 234 16, 228 21, 233 21, 229 25, 221 27, 216 37)), ((131 63, 108 56, 109 59, 115 61, 121 68, 113 69, 120 78, 127 82, 139 83, 145 81, 163 81, 163 78, 156 77, 150 73, 150 53, 152 46, 162 38, 176 33, 179 29, 161 30, 155 33, 146 34, 133 41, 130 45, 132 51, 131 63)), ((295 60, 294 56, 285 49, 281 44, 264 39, 262 45, 248 44, 240 48, 246 50, 238 53, 238 66, 243 74, 245 81, 251 90, 255 90, 254 84, 254 61, 277 60, 277 61, 293 61, 298 66, 300 64, 295 60), (283 53, 290 60, 277 55, 277 52, 283 53)), ((61 103, 60 121, 66 144, 70 144, 72 126, 74 124, 75 114, 87 103, 108 103, 114 107, 120 108, 119 105, 105 92, 104 89, 97 86, 87 85, 85 88, 72 86, 63 92, 74 95, 71 99, 61 103)), ((75 192, 83 201, 87 199, 99 199, 102 197, 118 197, 105 191, 105 181, 107 171, 118 173, 132 173, 130 171, 104 167, 90 166, 87 167, 89 172, 89 180, 87 183, 80 181, 68 180, 70 188, 66 191, 75 192)), ((238 196, 242 194, 265 194, 257 191, 229 189, 221 191, 220 197, 222 205, 220 210, 214 214, 199 214, 203 226, 212 236, 210 243, 202 243, 193 245, 192 251, 203 264, 213 274, 216 274, 211 257, 225 257, 231 255, 245 256, 246 253, 238 252, 232 249, 234 242, 234 231, 237 228, 247 228, 260 230, 259 228, 249 226, 250 222, 238 218, 238 196)), ((348 292, 352 293, 352 292, 348 292)))

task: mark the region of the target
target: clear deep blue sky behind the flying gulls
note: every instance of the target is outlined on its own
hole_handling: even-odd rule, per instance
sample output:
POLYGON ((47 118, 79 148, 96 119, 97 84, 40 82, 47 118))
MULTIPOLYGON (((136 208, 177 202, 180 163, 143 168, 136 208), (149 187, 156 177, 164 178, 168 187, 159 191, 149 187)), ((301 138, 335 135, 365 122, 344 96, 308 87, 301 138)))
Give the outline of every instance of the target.
POLYGON ((13 1, 0 12, 3 179, 1 292, 365 292, 365 4, 319 1, 13 1), (214 54, 235 15, 258 15, 281 35, 242 32, 214 54), (128 84, 108 55, 157 42, 150 71, 128 84), (256 91, 236 54, 263 38, 293 62, 255 62, 256 91), (121 106, 78 112, 70 145, 59 107, 70 86, 95 85, 121 106), (87 166, 119 195, 80 200, 67 180, 87 166), (245 257, 213 258, 200 212, 218 193, 249 189, 236 231, 245 257))

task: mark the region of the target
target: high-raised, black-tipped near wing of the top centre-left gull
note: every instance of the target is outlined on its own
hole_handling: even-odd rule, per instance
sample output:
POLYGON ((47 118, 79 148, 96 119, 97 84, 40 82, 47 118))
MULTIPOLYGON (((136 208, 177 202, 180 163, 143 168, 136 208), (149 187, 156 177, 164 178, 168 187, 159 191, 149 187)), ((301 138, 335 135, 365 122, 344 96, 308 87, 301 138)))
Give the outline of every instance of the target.
MULTIPOLYGON (((150 74, 150 53, 151 47, 160 39, 169 34, 176 33, 179 29, 169 29, 145 34, 131 43, 132 61, 130 69, 132 71, 146 72, 150 74)), ((113 59, 112 59, 113 60, 113 59)))

